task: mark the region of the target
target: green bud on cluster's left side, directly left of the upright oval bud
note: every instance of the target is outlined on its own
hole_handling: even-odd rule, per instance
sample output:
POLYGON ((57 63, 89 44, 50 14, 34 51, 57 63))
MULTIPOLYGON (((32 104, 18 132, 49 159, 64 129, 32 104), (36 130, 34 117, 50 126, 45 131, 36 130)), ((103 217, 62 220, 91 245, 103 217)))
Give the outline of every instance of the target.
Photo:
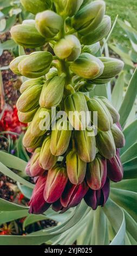
POLYGON ((41 95, 42 85, 36 84, 25 90, 17 100, 16 106, 20 112, 30 112, 38 107, 38 101, 41 95))

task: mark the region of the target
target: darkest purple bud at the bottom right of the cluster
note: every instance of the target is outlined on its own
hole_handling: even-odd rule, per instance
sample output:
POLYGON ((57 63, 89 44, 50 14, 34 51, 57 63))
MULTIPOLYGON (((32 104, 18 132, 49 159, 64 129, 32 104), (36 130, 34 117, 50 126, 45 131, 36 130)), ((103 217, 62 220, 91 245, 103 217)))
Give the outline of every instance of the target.
POLYGON ((84 200, 86 204, 96 210, 97 206, 104 206, 109 197, 110 185, 109 179, 106 180, 105 185, 101 190, 88 190, 84 200))

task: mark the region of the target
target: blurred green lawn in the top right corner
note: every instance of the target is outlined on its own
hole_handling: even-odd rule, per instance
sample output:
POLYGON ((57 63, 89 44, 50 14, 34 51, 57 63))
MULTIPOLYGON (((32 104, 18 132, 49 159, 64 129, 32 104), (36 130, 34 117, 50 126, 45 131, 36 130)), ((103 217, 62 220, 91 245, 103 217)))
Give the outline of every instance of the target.
MULTIPOLYGON (((105 0, 107 7, 107 14, 112 17, 114 22, 116 15, 119 15, 119 19, 129 21, 128 10, 131 9, 137 16, 137 0, 105 0)), ((116 23, 112 34, 112 40, 118 41, 120 44, 130 46, 129 39, 125 32, 116 23)))

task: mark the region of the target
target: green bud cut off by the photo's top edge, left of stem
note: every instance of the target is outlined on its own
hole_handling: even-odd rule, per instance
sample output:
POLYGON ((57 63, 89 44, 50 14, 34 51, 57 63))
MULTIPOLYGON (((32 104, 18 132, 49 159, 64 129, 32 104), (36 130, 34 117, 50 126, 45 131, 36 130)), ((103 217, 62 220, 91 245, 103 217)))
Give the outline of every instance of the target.
POLYGON ((40 13, 41 11, 50 9, 51 7, 50 0, 21 0, 21 3, 25 10, 33 14, 40 13))

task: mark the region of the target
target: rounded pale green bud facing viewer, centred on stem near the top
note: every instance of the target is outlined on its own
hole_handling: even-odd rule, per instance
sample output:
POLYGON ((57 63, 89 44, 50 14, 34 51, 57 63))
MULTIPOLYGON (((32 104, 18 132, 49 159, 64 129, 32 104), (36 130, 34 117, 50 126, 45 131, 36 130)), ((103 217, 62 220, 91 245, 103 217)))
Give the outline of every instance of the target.
POLYGON ((73 62, 80 56, 80 41, 75 35, 66 35, 55 44, 54 52, 58 58, 73 62))

